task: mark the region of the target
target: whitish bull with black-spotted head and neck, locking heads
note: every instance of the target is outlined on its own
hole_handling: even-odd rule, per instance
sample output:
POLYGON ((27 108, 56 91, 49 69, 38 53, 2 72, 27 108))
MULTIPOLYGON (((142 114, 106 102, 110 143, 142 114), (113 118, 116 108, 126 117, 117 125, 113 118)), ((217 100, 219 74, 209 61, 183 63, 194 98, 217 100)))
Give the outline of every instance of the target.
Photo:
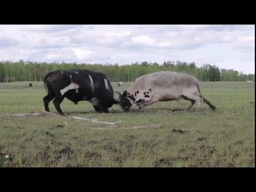
POLYGON ((203 100, 215 110, 215 106, 203 98, 201 93, 196 95, 197 90, 200 93, 199 82, 195 77, 174 71, 160 71, 135 79, 128 91, 125 90, 123 94, 117 93, 124 112, 129 112, 134 106, 139 106, 142 110, 145 106, 158 101, 179 101, 180 99, 191 102, 187 109, 198 101, 198 110, 200 110, 203 100))

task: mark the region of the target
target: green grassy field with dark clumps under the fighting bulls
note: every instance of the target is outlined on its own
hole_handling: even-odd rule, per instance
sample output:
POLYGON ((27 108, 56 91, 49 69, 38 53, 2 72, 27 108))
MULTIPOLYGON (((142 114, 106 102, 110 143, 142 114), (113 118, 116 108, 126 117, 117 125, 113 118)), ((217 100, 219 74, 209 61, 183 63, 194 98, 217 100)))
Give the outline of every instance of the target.
MULTIPOLYGON (((32 82, 32 90, 28 83, 0 83, 0 115, 44 110, 43 83, 32 82)), ((111 84, 122 92, 131 83, 111 84)), ((181 100, 158 102, 141 113, 125 114, 117 105, 98 114, 89 102, 65 99, 67 118, 0 117, 0 167, 255 167, 255 108, 249 103, 255 102, 254 82, 202 82, 201 93, 217 111, 206 104, 205 112, 197 105, 185 111, 189 102, 181 100), (101 126, 71 115, 163 128, 92 130, 86 128, 101 126)))

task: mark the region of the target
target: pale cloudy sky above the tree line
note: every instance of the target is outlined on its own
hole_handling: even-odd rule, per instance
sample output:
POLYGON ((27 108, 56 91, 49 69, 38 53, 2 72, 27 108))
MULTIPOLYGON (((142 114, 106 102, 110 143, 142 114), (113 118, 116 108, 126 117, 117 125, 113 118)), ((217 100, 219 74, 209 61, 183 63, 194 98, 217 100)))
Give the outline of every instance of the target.
POLYGON ((186 61, 255 71, 254 25, 0 25, 0 60, 186 61))

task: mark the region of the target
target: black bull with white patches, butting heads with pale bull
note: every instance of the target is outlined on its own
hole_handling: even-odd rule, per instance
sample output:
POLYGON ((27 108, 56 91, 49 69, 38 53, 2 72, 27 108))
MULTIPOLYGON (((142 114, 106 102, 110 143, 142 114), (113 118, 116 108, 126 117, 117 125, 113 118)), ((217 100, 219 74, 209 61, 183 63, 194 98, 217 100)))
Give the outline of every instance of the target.
POLYGON ((43 98, 45 111, 49 111, 49 102, 53 104, 59 114, 64 115, 60 103, 66 97, 77 104, 78 101, 89 101, 99 113, 109 113, 108 108, 119 103, 114 99, 114 91, 108 78, 95 71, 57 70, 44 77, 45 89, 48 94, 43 98))

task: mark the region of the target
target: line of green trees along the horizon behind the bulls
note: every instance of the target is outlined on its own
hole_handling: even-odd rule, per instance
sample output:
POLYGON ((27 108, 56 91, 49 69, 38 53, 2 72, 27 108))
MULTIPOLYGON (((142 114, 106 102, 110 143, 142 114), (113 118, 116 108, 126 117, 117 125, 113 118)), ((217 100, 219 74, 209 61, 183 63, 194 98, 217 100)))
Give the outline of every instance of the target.
MULTIPOLYGON (((133 82, 135 78, 145 74, 156 71, 178 71, 193 75, 199 81, 254 81, 255 74, 244 74, 242 71, 234 69, 220 69, 215 65, 209 63, 197 67, 195 62, 182 61, 164 61, 163 63, 135 62, 130 65, 119 66, 117 63, 111 65, 110 63, 102 64, 88 64, 88 63, 66 63, 66 62, 32 62, 23 61, 0 62, 0 82, 4 82, 5 77, 14 77, 15 81, 35 81, 34 70, 67 70, 67 69, 89 69, 104 73, 111 82, 133 82)), ((45 74, 44 74, 45 75, 45 74)), ((42 78, 44 77, 42 75, 42 78)), ((36 77, 39 81, 39 75, 36 77)))

